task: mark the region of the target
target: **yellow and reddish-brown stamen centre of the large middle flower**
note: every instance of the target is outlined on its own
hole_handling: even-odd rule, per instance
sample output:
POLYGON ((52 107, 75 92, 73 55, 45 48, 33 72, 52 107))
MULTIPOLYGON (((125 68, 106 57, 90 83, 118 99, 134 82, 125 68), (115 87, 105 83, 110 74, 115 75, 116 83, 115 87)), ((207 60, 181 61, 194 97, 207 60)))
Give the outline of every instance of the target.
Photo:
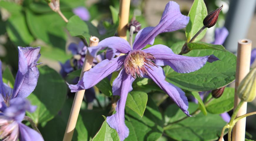
POLYGON ((133 78, 142 77, 144 74, 148 74, 147 68, 150 66, 156 66, 154 63, 155 57, 150 53, 143 51, 131 51, 127 55, 124 61, 124 69, 127 74, 131 74, 133 78), (147 68, 146 68, 147 67, 147 68))

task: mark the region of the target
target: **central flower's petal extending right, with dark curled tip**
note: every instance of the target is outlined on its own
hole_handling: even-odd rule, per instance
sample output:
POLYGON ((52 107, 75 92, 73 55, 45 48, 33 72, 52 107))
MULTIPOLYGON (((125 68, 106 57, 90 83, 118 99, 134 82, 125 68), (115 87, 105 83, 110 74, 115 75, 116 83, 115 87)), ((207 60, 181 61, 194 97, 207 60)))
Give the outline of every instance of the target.
POLYGON ((219 60, 214 55, 202 57, 189 57, 177 55, 172 50, 164 45, 155 45, 143 50, 145 53, 151 53, 156 58, 157 66, 168 65, 178 73, 190 73, 202 68, 206 62, 212 63, 219 60))

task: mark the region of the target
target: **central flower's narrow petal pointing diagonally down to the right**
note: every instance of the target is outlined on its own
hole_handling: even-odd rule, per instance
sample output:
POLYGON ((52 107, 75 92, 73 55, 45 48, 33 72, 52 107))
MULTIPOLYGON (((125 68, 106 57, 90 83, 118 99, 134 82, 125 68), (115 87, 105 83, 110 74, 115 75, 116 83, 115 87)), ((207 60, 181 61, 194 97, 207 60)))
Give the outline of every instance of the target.
POLYGON ((165 81, 164 71, 161 67, 157 68, 154 66, 151 67, 151 69, 147 68, 149 78, 154 80, 154 82, 172 98, 186 115, 190 116, 189 111, 187 110, 188 101, 185 93, 177 86, 165 81))

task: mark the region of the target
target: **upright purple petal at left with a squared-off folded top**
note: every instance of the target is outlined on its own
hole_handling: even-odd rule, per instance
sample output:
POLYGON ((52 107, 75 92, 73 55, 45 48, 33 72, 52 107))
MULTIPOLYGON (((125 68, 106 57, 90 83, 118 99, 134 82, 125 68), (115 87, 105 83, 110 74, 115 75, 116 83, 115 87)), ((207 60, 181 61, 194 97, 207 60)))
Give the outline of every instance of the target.
POLYGON ((39 71, 36 63, 41 56, 40 47, 18 47, 19 70, 16 75, 12 98, 26 98, 36 87, 39 71))

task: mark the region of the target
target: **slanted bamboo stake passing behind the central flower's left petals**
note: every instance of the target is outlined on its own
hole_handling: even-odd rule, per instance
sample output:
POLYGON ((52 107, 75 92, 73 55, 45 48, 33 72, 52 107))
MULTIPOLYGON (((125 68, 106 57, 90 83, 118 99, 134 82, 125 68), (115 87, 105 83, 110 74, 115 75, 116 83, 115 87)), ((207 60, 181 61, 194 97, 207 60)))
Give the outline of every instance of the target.
MULTIPOLYGON (((92 36, 90 38, 90 46, 97 46, 98 43, 99 43, 99 38, 97 38, 95 36, 92 36)), ((86 56, 84 58, 84 64, 83 64, 83 67, 82 67, 82 71, 81 71, 79 80, 81 80, 85 71, 92 68, 93 59, 94 59, 94 57, 91 56, 89 54, 89 52, 87 51, 86 56)), ((84 98, 84 92, 85 92, 85 90, 79 90, 75 94, 75 98, 74 98, 73 105, 72 105, 72 108, 71 108, 71 111, 70 111, 70 114, 69 114, 69 120, 68 120, 68 123, 67 123, 67 127, 66 127, 66 131, 65 131, 65 134, 64 134, 63 141, 71 141, 72 140, 74 129, 75 129, 76 123, 77 123, 77 118, 78 118, 79 111, 80 111, 82 101, 83 101, 83 98, 84 98)))

